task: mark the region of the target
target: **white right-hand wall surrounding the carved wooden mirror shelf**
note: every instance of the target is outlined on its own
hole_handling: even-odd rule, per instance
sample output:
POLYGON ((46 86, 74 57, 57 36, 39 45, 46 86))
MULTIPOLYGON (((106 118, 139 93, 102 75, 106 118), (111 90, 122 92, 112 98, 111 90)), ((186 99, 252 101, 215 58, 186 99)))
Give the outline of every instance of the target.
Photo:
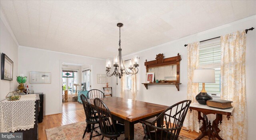
MULTIPOLYGON (((236 32, 238 30, 245 30, 251 27, 256 27, 256 16, 252 16, 243 20, 232 22, 217 28, 213 28, 198 34, 190 35, 175 41, 171 41, 156 47, 134 53, 132 55, 140 56, 140 67, 138 72, 138 95, 137 100, 146 101, 150 103, 162 104, 171 106, 174 103, 187 99, 187 48, 184 44, 192 43, 195 41, 202 41, 220 35, 236 32), (180 53, 182 60, 180 61, 180 91, 177 91, 174 85, 148 85, 148 90, 142 85, 146 80, 146 67, 144 62, 155 60, 156 54, 164 53, 165 57, 176 56, 180 53)), ((248 105, 248 140, 253 140, 256 137, 256 31, 249 31, 246 35, 246 94, 248 105)), ((129 59, 132 55, 124 57, 129 59)), ((112 78, 114 79, 114 78, 112 78)), ((120 83, 120 80, 118 81, 120 83)), ((120 85, 114 86, 116 91, 114 96, 120 97, 120 85)), ((125 98, 131 98, 130 92, 126 91, 125 98)), ((223 119, 226 119, 223 117, 223 119)), ((185 124, 186 126, 186 120, 185 124)))

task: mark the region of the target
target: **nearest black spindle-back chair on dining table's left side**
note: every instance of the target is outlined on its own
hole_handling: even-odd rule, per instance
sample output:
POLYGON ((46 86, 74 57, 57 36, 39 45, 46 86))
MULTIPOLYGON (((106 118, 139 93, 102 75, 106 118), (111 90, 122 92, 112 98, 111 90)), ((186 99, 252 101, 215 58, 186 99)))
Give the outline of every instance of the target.
POLYGON ((116 123, 112 118, 108 106, 106 106, 102 100, 95 98, 93 102, 99 116, 100 132, 102 134, 101 140, 103 140, 104 137, 110 138, 110 140, 117 140, 120 134, 124 134, 124 125, 116 123))

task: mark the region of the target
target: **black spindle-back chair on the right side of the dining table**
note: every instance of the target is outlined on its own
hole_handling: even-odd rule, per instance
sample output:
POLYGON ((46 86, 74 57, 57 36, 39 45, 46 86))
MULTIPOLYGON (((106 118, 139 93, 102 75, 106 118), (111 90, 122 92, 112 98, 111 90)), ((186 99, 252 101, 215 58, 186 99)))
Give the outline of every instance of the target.
POLYGON ((144 128, 144 140, 178 140, 190 103, 191 100, 176 103, 164 110, 152 122, 140 120, 144 128), (161 126, 155 126, 158 120, 161 126))

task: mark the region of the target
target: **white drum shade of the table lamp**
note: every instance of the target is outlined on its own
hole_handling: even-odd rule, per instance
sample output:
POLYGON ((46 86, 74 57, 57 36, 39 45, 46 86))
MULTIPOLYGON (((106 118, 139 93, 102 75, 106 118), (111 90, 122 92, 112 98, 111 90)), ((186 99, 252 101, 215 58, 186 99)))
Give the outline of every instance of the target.
POLYGON ((214 69, 195 69, 193 83, 215 83, 214 69))

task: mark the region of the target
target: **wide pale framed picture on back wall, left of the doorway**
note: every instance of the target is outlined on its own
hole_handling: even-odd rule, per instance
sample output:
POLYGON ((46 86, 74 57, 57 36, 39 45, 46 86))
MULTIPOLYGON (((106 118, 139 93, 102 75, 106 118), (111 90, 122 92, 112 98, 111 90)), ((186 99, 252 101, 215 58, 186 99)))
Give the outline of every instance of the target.
POLYGON ((51 73, 50 72, 29 72, 29 83, 30 84, 50 84, 51 73))

